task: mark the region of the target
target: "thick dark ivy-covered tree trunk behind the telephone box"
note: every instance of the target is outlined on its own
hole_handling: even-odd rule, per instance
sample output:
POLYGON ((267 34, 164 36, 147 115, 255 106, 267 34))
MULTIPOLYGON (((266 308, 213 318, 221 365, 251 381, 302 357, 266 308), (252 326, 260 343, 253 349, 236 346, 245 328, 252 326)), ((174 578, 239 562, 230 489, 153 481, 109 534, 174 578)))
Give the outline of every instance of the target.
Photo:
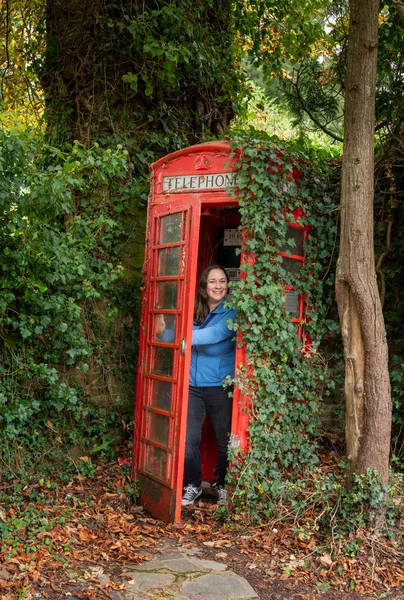
MULTIPOLYGON (((138 321, 149 166, 179 147, 221 135, 233 116, 230 15, 231 0, 46 0, 41 82, 48 139, 62 148, 73 140, 120 144, 130 159, 126 186, 113 182, 113 201, 101 184, 92 193, 97 210, 119 223, 119 239, 104 251, 111 263, 119 251, 125 268, 121 293, 105 291, 119 310, 115 331, 95 334, 84 323, 90 344, 101 338, 109 357, 107 366, 94 360, 80 375, 85 394, 98 403, 119 396, 132 410, 136 325, 131 329, 126 321, 127 315, 138 321)), ((88 198, 78 195, 79 214, 86 204, 88 198)), ((68 221, 74 217, 66 215, 68 221)), ((94 310, 94 322, 102 323, 103 298, 91 304, 94 310)))

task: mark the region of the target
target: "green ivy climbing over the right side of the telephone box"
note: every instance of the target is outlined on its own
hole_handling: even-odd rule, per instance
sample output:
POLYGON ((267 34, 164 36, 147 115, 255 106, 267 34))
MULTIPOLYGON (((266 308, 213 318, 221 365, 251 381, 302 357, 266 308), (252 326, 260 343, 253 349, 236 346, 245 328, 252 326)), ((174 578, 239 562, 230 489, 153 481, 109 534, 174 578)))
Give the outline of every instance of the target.
POLYGON ((288 482, 318 460, 319 400, 329 393, 317 352, 326 330, 321 275, 335 236, 334 205, 314 152, 272 138, 244 144, 239 168, 245 245, 254 260, 243 267, 246 277, 232 296, 248 356, 235 383, 251 391, 253 418, 248 452, 235 452, 231 481, 240 509, 268 516, 276 499, 285 497, 288 482), (295 221, 292 211, 298 211, 299 224, 311 227, 299 275, 278 255, 285 247, 293 254, 295 242, 286 238, 288 221, 295 221), (305 296, 303 345, 299 324, 284 308, 284 285, 305 296))

